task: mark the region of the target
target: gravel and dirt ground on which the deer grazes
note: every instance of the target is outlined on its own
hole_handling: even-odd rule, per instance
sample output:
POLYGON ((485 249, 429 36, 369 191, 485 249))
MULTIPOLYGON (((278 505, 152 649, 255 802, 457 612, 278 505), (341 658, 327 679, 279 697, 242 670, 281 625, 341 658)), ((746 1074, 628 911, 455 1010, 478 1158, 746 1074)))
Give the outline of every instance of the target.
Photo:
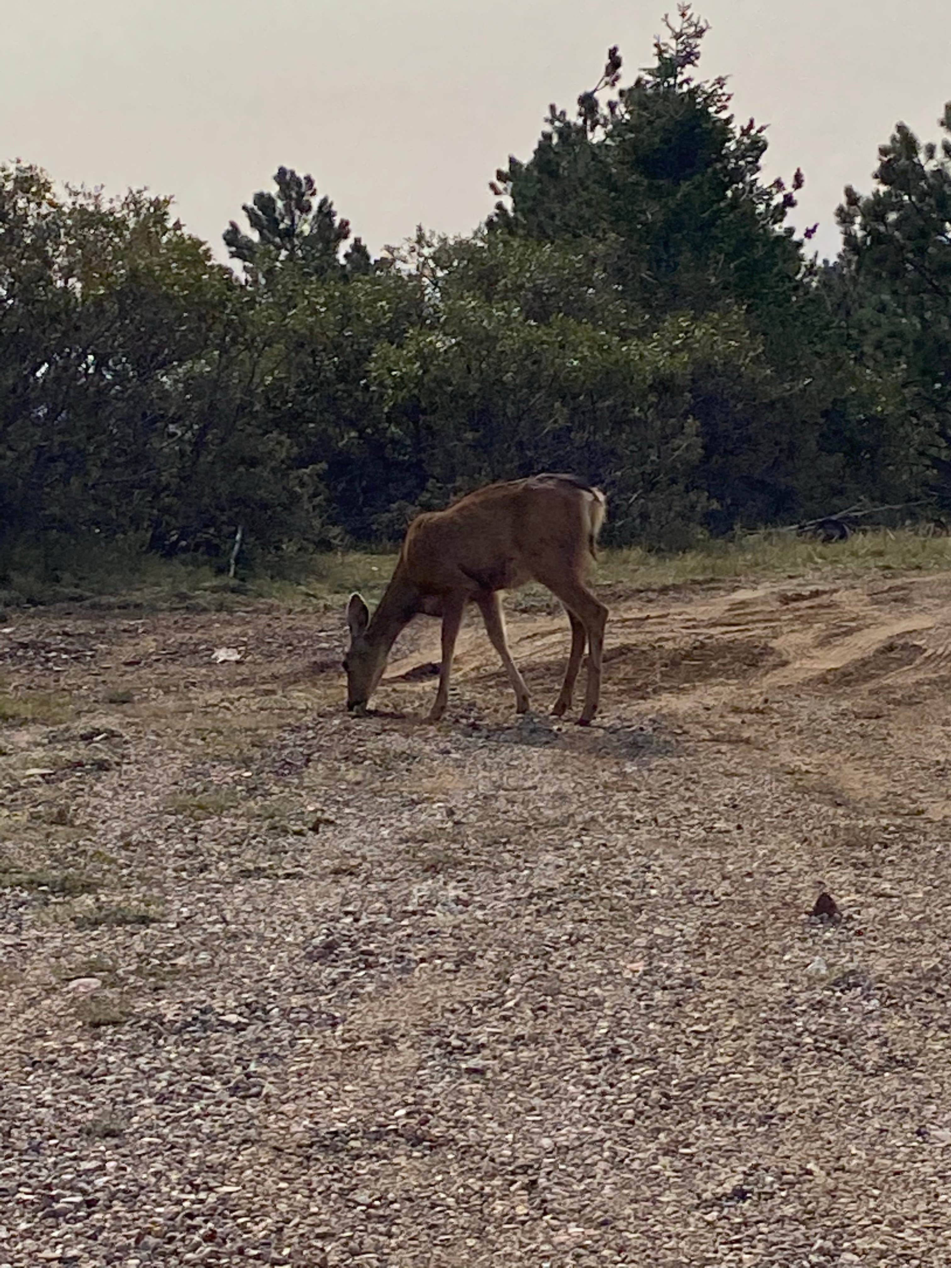
POLYGON ((0 1265, 951 1264, 950 595, 8 618, 0 1265))

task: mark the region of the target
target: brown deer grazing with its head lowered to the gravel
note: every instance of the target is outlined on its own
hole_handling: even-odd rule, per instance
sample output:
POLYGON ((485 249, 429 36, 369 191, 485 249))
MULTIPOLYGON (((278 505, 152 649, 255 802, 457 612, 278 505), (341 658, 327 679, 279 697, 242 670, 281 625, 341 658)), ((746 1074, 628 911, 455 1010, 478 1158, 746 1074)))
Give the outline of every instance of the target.
POLYGON ((552 713, 560 718, 571 709, 587 644, 585 705, 578 718, 578 724, 587 727, 601 691, 609 610, 586 581, 606 508, 605 495, 577 476, 543 472, 484 486, 443 511, 417 515, 373 616, 360 595, 350 596, 350 645, 344 658, 347 710, 366 713, 398 634, 413 616, 426 614, 443 618, 439 687, 426 719, 439 721, 449 701, 463 615, 474 604, 515 691, 516 711, 527 713, 529 689, 508 650, 500 592, 538 581, 564 605, 572 634, 564 681, 552 713))

